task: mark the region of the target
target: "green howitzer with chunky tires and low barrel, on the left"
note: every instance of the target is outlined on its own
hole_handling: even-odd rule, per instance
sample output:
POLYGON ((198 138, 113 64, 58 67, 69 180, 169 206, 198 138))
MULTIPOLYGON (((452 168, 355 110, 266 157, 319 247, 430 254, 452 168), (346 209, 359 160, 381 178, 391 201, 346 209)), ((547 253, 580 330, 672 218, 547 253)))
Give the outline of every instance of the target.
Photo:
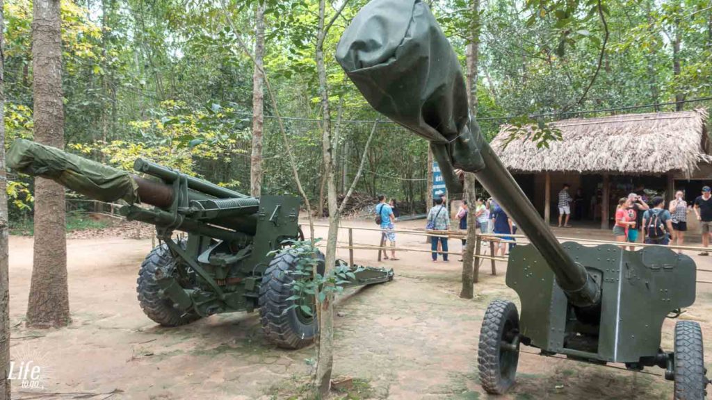
MULTIPOLYGON (((259 308, 263 332, 271 342, 290 349, 313 342, 318 332, 313 298, 292 298, 291 284, 299 278, 293 274, 297 253, 271 255, 290 241, 304 240, 298 197, 256 199, 137 159, 134 169, 153 177, 146 179, 28 140, 12 144, 7 164, 91 199, 122 199, 128 204, 120 214, 156 226, 162 243, 145 258, 137 280, 138 300, 151 320, 178 326, 221 312, 259 308), (175 231, 187 232, 187 238, 174 240, 175 231), (299 307, 291 307, 295 304, 299 307)), ((318 257, 317 270, 323 274, 323 256, 318 257)), ((343 286, 393 279, 392 269, 354 265, 351 270, 355 278, 343 286)))

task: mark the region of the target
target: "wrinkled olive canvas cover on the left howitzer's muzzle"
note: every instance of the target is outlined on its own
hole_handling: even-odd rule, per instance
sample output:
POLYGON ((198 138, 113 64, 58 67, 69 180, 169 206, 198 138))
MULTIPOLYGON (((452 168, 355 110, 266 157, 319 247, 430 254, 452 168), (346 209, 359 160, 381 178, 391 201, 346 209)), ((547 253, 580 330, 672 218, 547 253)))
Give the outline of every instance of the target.
POLYGON ((8 167, 33 177, 52 179, 91 199, 137 203, 131 174, 30 140, 18 139, 6 154, 8 167))

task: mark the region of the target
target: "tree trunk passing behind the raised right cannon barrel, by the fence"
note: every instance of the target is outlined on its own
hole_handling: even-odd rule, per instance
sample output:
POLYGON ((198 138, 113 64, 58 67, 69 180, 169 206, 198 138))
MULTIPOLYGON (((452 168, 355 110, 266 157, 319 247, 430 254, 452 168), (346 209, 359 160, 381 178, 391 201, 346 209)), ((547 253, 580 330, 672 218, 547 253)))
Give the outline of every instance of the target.
MULTIPOLYGON (((480 0, 472 0, 472 26, 470 41, 467 45, 467 97, 470 105, 470 115, 474 118, 477 116, 477 67, 479 56, 479 11, 480 0)), ((473 253, 475 251, 475 242, 477 240, 477 229, 475 209, 476 199, 475 194, 475 176, 474 174, 465 173, 465 199, 470 207, 467 213, 467 244, 463 249, 462 254, 462 290, 461 298, 473 298, 473 253)))

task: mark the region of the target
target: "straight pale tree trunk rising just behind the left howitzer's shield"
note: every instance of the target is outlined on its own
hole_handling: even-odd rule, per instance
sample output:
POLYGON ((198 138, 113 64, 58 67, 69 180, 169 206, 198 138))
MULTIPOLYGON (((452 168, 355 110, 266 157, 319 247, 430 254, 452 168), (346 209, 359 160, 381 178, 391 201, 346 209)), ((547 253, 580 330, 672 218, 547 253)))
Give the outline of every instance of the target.
POLYGON ((262 192, 262 129, 264 125, 264 90, 262 76, 265 53, 265 4, 258 1, 255 11, 255 65, 252 73, 252 157, 250 194, 262 192))

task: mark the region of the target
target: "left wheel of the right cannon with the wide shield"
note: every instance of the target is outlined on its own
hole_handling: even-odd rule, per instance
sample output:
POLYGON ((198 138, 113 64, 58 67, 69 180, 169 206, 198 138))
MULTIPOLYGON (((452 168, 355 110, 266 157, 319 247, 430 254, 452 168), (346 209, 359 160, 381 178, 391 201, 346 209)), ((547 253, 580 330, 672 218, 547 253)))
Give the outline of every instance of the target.
POLYGON ((485 312, 480 330, 477 362, 482 388, 491 394, 504 394, 514 384, 519 352, 502 347, 519 335, 517 306, 507 300, 493 300, 485 312))

